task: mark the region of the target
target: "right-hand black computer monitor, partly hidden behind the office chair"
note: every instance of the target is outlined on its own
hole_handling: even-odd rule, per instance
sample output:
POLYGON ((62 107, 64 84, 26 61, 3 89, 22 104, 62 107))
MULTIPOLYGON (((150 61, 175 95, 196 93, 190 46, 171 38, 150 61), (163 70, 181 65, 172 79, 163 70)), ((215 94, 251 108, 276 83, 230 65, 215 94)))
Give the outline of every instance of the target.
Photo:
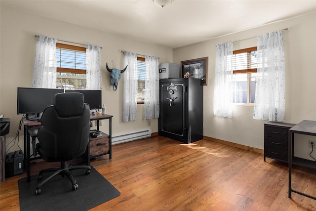
POLYGON ((102 108, 101 90, 90 89, 65 89, 65 92, 79 92, 84 96, 84 102, 89 104, 90 110, 102 108))

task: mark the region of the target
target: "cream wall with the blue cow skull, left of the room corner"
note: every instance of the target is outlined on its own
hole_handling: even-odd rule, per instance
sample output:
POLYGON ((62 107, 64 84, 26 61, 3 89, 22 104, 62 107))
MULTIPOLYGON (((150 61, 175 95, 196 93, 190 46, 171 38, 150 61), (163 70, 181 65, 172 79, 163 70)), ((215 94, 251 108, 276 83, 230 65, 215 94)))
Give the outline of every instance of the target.
MULTIPOLYGON (((172 62, 172 49, 156 44, 124 38, 119 35, 104 33, 87 27, 70 24, 47 17, 38 16, 1 6, 0 13, 0 114, 10 118, 10 133, 6 136, 8 144, 15 136, 22 115, 16 114, 17 87, 31 87, 36 38, 34 35, 49 36, 59 40, 95 44, 102 46, 102 101, 107 114, 112 118, 113 136, 127 132, 151 128, 158 131, 158 120, 144 120, 144 105, 137 106, 137 120, 122 122, 123 80, 118 83, 118 90, 113 91, 110 85, 110 68, 123 69, 124 57, 121 50, 131 51, 142 55, 158 56, 160 63, 172 62)), ((108 121, 103 120, 100 130, 108 132, 108 121)), ((23 149, 23 127, 20 131, 19 146, 23 149)), ((11 145, 10 145, 11 146, 11 145)), ((17 145, 10 151, 18 150, 17 145)))

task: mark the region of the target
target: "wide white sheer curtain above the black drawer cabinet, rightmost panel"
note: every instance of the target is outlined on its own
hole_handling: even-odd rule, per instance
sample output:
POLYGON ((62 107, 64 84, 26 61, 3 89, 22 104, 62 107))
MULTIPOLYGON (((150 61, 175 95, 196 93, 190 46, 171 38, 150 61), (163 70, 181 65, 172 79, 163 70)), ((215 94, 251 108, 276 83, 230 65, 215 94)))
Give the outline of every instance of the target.
POLYGON ((284 122, 285 64, 282 30, 258 37, 253 118, 284 122))

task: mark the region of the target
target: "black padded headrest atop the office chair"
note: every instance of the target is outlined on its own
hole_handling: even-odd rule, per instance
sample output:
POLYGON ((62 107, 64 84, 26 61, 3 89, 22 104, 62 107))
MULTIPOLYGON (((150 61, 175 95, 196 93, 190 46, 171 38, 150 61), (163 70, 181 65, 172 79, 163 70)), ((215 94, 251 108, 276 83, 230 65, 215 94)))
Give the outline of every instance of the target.
POLYGON ((53 103, 60 117, 78 116, 83 110, 84 96, 78 92, 58 93, 53 103))

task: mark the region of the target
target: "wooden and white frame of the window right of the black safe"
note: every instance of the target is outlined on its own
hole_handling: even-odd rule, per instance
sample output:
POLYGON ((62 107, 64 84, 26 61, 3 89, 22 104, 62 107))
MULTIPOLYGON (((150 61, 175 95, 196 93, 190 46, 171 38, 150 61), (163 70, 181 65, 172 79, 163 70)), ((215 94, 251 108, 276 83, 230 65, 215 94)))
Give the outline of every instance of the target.
MULTIPOLYGON (((239 49, 239 50, 234 50, 233 51, 233 55, 238 54, 238 53, 247 53, 248 56, 247 58, 249 58, 249 54, 252 51, 257 51, 257 47, 249 47, 249 48, 243 48, 243 49, 239 49)), ((247 103, 234 103, 235 105, 248 105, 248 106, 254 106, 254 103, 251 103, 250 100, 250 88, 251 88, 251 73, 257 73, 257 68, 250 68, 251 67, 251 63, 250 60, 247 59, 247 69, 243 69, 243 70, 234 70, 233 71, 233 75, 236 74, 247 74, 247 103)))

